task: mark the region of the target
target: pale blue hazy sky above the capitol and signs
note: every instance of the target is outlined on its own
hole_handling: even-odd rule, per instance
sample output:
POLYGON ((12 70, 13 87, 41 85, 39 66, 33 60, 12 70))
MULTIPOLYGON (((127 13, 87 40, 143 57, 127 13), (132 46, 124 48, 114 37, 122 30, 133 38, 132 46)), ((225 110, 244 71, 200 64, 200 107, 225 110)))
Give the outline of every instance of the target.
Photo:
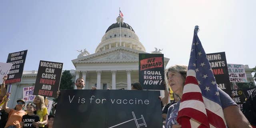
POLYGON ((194 26, 206 53, 226 52, 229 64, 255 63, 254 0, 1 0, 0 62, 8 53, 28 50, 24 70, 38 70, 40 60, 71 60, 90 54, 116 22, 118 8, 146 52, 164 49, 168 66, 188 64, 194 26))

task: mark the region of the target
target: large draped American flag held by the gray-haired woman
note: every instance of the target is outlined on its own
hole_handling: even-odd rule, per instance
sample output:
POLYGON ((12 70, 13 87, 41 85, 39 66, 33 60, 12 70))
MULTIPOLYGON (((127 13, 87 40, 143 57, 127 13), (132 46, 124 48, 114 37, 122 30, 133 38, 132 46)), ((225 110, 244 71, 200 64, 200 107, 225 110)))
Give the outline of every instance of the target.
POLYGON ((216 80, 197 31, 195 28, 177 121, 182 128, 226 128, 216 80))

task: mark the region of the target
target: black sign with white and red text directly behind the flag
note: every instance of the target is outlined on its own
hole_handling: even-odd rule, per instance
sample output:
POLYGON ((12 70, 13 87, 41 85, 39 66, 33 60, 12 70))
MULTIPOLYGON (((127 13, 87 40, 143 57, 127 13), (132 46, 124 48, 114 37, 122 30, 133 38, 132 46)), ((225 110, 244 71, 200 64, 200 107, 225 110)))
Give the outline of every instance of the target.
POLYGON ((231 87, 228 76, 228 65, 225 52, 206 54, 212 72, 216 79, 217 86, 231 96, 231 87))

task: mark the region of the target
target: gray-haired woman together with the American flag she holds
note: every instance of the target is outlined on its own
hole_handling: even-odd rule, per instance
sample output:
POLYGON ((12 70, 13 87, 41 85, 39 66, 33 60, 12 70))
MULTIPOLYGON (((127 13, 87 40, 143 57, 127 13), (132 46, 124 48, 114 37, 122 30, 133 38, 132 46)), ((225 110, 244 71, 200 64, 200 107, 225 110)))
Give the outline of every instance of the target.
POLYGON ((198 29, 195 26, 188 67, 175 65, 166 73, 181 99, 169 107, 166 128, 252 128, 237 104, 217 87, 198 29))

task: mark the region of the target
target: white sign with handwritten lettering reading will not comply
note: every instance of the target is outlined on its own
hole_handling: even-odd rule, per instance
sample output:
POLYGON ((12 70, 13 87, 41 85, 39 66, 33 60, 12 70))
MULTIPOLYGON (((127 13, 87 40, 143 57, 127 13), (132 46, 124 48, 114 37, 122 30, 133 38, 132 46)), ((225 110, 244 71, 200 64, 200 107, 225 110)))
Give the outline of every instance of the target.
POLYGON ((247 83, 247 77, 242 64, 228 64, 230 82, 247 83))

